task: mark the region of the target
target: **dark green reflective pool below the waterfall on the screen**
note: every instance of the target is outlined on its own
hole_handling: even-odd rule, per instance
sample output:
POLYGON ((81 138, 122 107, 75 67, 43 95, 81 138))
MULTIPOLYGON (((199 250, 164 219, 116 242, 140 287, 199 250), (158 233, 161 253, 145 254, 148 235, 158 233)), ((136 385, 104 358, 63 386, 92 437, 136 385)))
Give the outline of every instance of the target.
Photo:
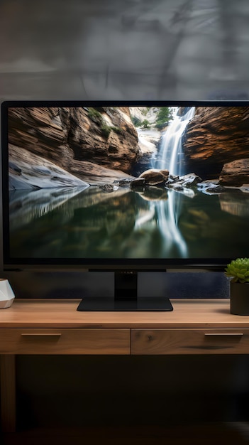
POLYGON ((19 191, 11 195, 11 255, 41 258, 237 257, 248 252, 249 195, 231 191, 77 193, 19 191), (43 208, 35 205, 37 198, 43 208), (32 198, 32 199, 31 199, 32 198), (232 207, 231 207, 232 206, 232 207), (236 236, 234 234, 236 233, 236 236))

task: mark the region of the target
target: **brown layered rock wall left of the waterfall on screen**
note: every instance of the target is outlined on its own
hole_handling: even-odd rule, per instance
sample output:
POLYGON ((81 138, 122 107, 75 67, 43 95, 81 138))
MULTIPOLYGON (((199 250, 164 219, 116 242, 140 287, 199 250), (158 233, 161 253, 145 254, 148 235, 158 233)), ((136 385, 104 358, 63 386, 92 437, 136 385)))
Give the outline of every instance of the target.
POLYGON ((139 155, 128 107, 12 108, 9 144, 16 168, 30 153, 89 183, 127 176, 139 155))

